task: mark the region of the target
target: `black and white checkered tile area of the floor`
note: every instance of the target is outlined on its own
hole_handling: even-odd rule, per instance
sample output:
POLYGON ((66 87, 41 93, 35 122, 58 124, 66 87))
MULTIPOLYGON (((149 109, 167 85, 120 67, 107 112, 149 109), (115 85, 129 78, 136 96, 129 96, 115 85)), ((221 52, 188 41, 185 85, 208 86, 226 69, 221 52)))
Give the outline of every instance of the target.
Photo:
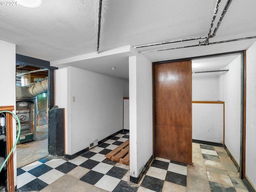
POLYGON ((105 154, 128 140, 129 133, 114 134, 88 152, 68 160, 46 157, 17 170, 19 192, 40 191, 65 174, 86 168, 80 180, 109 192, 161 192, 169 183, 186 186, 187 166, 156 158, 139 184, 130 183, 130 167, 105 158, 105 154))

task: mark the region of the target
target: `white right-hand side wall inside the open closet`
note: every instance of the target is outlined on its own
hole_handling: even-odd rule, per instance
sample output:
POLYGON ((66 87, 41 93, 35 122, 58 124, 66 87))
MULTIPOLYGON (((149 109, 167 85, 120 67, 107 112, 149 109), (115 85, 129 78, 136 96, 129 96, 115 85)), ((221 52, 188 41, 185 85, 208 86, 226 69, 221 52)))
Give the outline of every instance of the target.
POLYGON ((238 56, 220 76, 220 100, 225 102, 225 145, 239 165, 241 117, 241 57, 238 56))

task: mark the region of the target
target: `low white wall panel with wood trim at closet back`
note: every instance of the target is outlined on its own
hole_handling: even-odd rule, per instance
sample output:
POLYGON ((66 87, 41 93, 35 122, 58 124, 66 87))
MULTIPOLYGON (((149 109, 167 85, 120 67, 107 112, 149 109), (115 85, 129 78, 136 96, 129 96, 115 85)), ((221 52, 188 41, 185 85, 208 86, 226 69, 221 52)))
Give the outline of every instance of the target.
POLYGON ((223 104, 192 103, 192 139, 223 143, 223 104))

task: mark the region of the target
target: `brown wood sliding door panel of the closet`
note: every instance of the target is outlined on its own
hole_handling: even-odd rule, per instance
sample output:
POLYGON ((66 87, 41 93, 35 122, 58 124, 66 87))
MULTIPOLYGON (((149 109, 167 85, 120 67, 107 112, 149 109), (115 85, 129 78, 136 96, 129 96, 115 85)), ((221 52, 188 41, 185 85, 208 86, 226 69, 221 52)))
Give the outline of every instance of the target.
POLYGON ((191 61, 155 64, 156 156, 192 164, 191 61))

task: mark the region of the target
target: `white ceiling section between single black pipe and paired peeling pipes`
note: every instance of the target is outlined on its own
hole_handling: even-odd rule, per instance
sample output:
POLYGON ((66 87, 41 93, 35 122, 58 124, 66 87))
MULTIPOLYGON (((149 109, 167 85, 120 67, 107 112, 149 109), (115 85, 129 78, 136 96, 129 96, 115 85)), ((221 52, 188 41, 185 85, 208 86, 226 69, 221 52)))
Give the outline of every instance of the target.
POLYGON ((205 36, 215 4, 216 0, 105 1, 101 50, 205 36))

